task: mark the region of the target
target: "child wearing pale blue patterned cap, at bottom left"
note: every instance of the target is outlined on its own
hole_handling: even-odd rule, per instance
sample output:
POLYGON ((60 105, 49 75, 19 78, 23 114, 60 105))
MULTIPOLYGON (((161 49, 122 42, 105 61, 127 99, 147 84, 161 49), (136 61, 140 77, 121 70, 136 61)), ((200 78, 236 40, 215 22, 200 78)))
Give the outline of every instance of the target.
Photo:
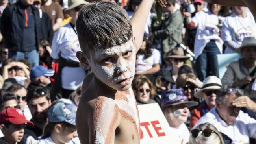
MULTIPOLYGON (((73 105, 56 102, 48 110, 48 123, 37 144, 76 144, 76 109, 73 105)), ((78 140, 78 139, 77 139, 78 140)))

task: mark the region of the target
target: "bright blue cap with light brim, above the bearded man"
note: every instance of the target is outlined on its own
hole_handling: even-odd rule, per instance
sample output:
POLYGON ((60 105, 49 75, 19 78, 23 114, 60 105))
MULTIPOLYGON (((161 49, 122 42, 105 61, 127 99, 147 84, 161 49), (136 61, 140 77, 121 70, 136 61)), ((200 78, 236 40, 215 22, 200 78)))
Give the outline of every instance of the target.
POLYGON ((40 76, 53 76, 54 70, 47 69, 44 66, 35 66, 30 71, 30 78, 39 78, 40 76))

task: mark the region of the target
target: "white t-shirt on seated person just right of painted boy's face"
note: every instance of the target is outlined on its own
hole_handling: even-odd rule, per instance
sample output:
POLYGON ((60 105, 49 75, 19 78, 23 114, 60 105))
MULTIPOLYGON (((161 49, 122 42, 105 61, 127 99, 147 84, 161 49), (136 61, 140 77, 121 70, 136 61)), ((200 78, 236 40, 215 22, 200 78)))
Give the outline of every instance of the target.
POLYGON ((152 55, 144 59, 144 55, 138 55, 136 60, 135 70, 138 72, 145 72, 153 67, 155 64, 161 65, 161 55, 156 49, 152 49, 152 55))

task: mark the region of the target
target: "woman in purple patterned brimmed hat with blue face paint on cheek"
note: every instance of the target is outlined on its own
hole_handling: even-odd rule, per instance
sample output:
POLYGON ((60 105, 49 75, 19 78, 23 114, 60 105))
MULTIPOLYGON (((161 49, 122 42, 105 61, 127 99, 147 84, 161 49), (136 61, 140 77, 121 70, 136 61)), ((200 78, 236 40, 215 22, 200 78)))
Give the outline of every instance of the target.
POLYGON ((161 94, 161 107, 170 129, 181 144, 189 142, 189 130, 184 122, 189 115, 189 107, 198 105, 197 102, 188 101, 183 89, 165 90, 161 94))

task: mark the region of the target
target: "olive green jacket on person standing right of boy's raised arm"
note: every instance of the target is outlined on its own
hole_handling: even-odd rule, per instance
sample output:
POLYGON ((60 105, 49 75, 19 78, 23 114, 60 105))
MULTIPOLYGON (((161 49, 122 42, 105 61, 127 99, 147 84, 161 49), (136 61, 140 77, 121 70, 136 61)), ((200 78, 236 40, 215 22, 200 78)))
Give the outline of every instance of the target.
MULTIPOLYGON (((154 25, 156 24, 153 24, 152 26, 154 27, 154 25)), ((166 53, 172 48, 176 47, 177 43, 173 41, 171 35, 173 35, 173 37, 175 37, 178 42, 182 42, 182 28, 183 18, 179 10, 176 10, 174 13, 170 14, 167 18, 162 20, 160 30, 154 31, 154 28, 152 28, 154 31, 154 38, 162 40, 162 52, 166 53)))

